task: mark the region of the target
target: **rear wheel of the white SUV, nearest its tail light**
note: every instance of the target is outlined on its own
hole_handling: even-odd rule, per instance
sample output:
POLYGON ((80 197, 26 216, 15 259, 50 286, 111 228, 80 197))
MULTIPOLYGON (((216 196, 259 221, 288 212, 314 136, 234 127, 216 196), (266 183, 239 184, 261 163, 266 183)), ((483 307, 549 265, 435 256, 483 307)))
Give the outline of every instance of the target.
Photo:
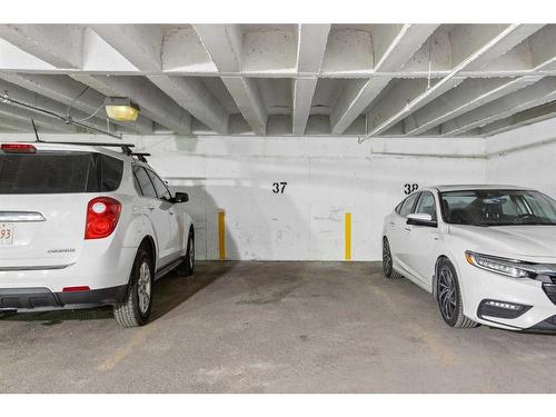
POLYGON ((152 307, 153 284, 153 268, 149 252, 139 248, 131 268, 126 300, 113 306, 113 317, 121 327, 147 324, 152 307))

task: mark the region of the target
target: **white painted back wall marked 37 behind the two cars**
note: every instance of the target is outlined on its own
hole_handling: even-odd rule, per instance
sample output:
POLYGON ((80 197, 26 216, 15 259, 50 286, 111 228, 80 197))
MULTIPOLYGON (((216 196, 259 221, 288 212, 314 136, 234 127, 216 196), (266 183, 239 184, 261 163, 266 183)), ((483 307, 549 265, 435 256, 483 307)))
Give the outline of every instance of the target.
MULTIPOLYGON (((0 140, 8 140, 0 136, 0 140)), ((32 139, 29 137, 29 139, 32 139)), ((44 139, 102 137, 44 136, 44 139)), ((345 214, 353 259, 378 260, 383 218, 405 183, 485 182, 485 140, 330 137, 126 137, 175 189, 190 193, 197 256, 218 258, 226 212, 228 259, 342 260, 345 214), (284 195, 272 182, 287 181, 284 195)))

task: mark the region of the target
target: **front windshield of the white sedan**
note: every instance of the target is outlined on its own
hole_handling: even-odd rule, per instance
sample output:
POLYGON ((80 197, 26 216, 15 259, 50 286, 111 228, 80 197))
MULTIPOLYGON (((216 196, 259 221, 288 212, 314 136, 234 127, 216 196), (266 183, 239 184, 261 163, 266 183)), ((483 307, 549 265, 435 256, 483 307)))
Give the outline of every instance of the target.
POLYGON ((440 193, 440 201, 448 224, 556 225, 556 201, 538 191, 449 191, 440 193))

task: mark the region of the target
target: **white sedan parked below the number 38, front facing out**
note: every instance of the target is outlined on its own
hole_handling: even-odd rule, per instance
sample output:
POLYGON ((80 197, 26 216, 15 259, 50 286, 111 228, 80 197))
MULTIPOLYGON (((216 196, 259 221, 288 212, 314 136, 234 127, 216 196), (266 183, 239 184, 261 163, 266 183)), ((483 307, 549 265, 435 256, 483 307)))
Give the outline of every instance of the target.
POLYGON ((431 292, 451 327, 556 330, 556 201, 509 186, 438 186, 386 217, 383 267, 431 292))

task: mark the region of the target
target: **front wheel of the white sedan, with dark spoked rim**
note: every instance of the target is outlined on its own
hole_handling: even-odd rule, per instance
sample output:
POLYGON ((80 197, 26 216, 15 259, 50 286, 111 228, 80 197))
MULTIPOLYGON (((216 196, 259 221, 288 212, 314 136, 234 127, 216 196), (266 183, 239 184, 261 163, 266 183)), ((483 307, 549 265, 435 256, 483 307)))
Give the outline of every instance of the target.
POLYGON ((478 322, 464 316, 464 302, 456 269, 447 258, 443 258, 438 262, 436 300, 440 315, 448 326, 456 328, 478 326, 478 322))

